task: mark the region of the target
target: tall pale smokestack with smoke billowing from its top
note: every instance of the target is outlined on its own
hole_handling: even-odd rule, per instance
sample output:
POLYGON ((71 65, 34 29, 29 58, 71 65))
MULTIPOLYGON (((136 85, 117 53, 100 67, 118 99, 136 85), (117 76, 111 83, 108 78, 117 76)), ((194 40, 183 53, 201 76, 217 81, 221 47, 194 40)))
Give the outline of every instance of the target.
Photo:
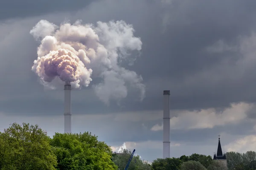
POLYGON ((71 84, 64 85, 64 133, 71 133, 71 84))

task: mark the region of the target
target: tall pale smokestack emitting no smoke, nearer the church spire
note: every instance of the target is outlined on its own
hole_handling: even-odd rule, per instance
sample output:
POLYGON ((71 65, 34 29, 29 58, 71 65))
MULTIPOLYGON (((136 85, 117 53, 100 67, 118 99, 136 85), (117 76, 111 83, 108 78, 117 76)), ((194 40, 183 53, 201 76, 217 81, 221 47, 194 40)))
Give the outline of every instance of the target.
POLYGON ((163 91, 163 159, 170 158, 170 91, 163 91))

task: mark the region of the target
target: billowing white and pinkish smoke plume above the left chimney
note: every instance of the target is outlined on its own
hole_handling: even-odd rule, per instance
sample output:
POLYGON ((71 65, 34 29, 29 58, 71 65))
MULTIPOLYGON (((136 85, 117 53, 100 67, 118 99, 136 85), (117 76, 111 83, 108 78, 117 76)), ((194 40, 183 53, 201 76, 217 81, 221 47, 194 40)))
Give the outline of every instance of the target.
POLYGON ((56 26, 41 20, 30 34, 41 41, 32 71, 46 87, 55 89, 62 81, 71 81, 73 88, 87 87, 99 77, 102 82, 93 88, 105 104, 125 98, 128 88, 139 89, 140 99, 144 98, 142 77, 120 66, 122 61, 133 62, 132 51, 141 50, 142 42, 134 37, 132 25, 110 21, 94 26, 77 20, 73 25, 56 26))

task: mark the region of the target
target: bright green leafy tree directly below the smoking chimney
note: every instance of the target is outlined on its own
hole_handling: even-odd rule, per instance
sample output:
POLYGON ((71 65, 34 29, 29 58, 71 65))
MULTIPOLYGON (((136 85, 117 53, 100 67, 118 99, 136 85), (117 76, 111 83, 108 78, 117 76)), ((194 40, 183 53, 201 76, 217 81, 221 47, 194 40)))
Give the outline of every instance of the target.
POLYGON ((116 170, 112 150, 89 132, 55 133, 50 141, 57 156, 58 170, 116 170))

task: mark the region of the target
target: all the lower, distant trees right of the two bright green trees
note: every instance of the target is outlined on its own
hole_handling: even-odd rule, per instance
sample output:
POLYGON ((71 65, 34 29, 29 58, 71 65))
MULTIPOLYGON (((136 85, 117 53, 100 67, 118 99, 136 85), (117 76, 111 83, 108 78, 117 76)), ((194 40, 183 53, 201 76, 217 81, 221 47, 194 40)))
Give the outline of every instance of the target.
MULTIPOLYGON (((131 151, 123 150, 123 154, 113 156, 113 161, 123 170, 131 151)), ((156 159, 152 164, 140 160, 136 156, 131 162, 129 170, 256 170, 256 152, 246 153, 227 152, 227 166, 223 162, 215 161, 211 156, 193 153, 190 156, 180 158, 156 159), (139 164, 135 161, 139 160, 139 164)))

